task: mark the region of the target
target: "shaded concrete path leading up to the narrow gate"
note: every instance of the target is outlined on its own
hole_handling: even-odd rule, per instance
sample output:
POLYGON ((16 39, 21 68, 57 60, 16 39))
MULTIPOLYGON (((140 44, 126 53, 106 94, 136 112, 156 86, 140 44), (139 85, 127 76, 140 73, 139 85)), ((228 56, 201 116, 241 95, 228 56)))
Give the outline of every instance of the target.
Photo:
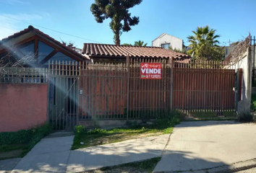
POLYGON ((66 172, 74 136, 43 138, 21 159, 12 173, 66 172))

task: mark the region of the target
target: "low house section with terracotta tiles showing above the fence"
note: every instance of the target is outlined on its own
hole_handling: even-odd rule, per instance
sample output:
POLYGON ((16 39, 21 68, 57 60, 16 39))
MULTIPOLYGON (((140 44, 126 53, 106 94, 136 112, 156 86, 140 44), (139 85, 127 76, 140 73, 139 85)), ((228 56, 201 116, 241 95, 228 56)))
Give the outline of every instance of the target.
POLYGON ((133 45, 106 45, 84 43, 82 54, 93 62, 126 61, 129 58, 175 58, 179 61, 189 62, 190 57, 183 53, 157 47, 142 47, 133 45))

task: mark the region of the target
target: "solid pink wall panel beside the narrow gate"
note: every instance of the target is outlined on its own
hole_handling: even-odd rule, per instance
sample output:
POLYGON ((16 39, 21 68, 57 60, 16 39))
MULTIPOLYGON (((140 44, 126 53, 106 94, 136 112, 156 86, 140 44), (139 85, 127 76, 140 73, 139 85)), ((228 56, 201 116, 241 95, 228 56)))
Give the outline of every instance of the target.
POLYGON ((46 122, 47 84, 0 84, 0 132, 46 122))

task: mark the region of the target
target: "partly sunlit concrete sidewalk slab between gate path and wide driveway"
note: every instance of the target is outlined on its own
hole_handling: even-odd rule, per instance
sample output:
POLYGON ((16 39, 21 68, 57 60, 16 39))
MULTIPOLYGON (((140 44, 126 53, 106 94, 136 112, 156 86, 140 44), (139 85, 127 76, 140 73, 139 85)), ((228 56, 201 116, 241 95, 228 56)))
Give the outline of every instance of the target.
POLYGON ((67 172, 85 172, 161 156, 169 134, 72 151, 67 172))

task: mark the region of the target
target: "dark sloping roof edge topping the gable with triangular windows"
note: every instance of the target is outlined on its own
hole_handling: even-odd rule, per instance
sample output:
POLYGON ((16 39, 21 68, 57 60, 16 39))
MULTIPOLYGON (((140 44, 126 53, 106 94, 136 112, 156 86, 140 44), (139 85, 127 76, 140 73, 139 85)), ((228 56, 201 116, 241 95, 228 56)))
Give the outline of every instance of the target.
POLYGON ((54 42, 56 45, 59 45, 61 48, 64 48, 65 50, 68 50, 70 53, 74 54, 74 56, 78 56, 80 58, 85 58, 86 60, 90 60, 89 58, 82 56, 80 53, 77 53, 77 51, 72 50, 71 48, 69 48, 68 46, 60 43, 59 41, 55 40, 53 37, 50 37, 49 35, 46 35, 45 33, 41 32, 40 30, 36 29, 33 26, 28 26, 27 28, 25 28, 25 30, 22 30, 20 32, 16 32, 13 35, 10 35, 9 37, 3 38, 2 40, 0 40, 0 45, 1 43, 4 43, 8 40, 11 40, 14 37, 19 37, 20 35, 24 35, 27 32, 33 31, 35 32, 35 34, 41 35, 43 37, 46 37, 46 39, 50 40, 51 42, 54 42))

